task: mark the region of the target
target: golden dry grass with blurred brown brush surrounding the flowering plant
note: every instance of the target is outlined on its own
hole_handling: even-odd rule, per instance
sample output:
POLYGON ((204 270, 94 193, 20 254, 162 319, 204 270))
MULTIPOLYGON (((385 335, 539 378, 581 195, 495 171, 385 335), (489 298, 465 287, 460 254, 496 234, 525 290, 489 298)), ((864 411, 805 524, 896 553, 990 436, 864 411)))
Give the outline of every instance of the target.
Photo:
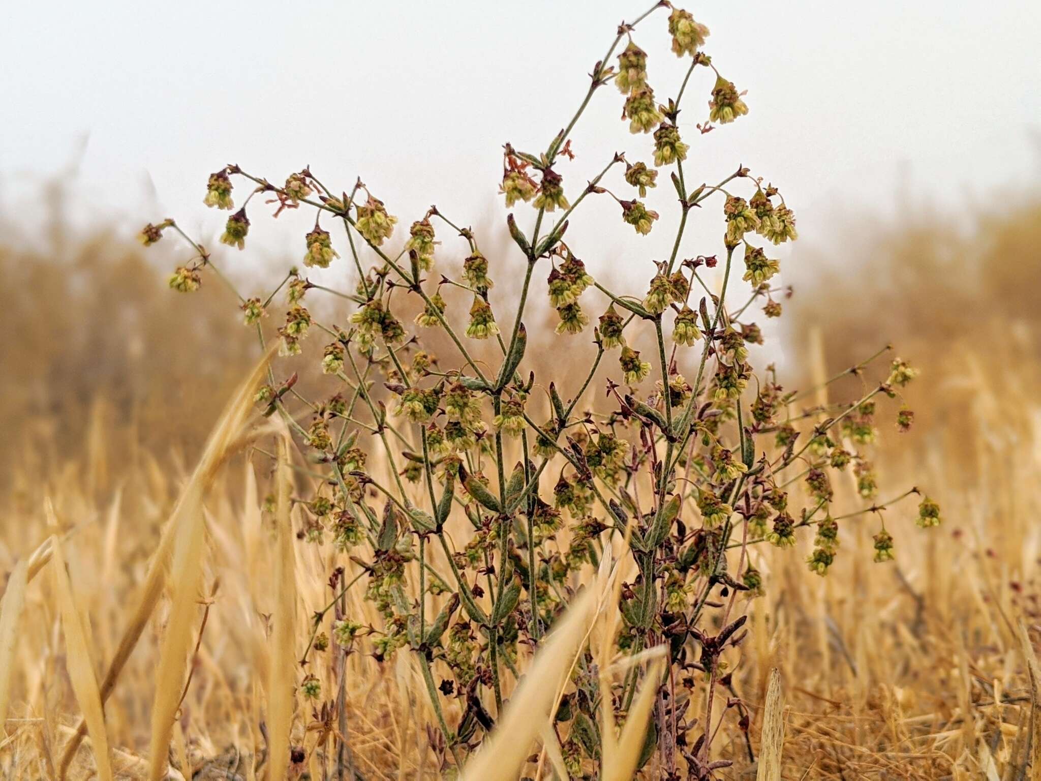
MULTIPOLYGON (((976 236, 951 252, 963 258, 963 266, 969 255, 981 262, 975 248, 987 246, 989 236, 998 249, 986 269, 1001 269, 997 257, 1014 251, 1024 257, 1026 245, 1037 246, 1031 244, 1034 235, 1026 224, 1016 216, 1007 223, 985 223, 976 236)), ((887 240, 890 254, 914 267, 920 255, 912 256, 911 248, 932 245, 917 232, 904 235, 906 245, 899 234, 887 240)), ((233 329, 239 326, 224 325, 218 312, 227 307, 212 300, 189 302, 197 308, 187 314, 180 308, 182 300, 176 308, 163 308, 160 301, 169 294, 148 292, 158 285, 139 258, 127 254, 125 258, 136 259, 109 267, 102 247, 84 245, 78 257, 87 259, 76 262, 97 268, 106 284, 138 280, 139 287, 128 287, 123 296, 156 296, 154 313, 167 330, 150 326, 143 352, 154 362, 129 360, 124 341, 103 338, 108 326, 101 310, 90 297, 77 298, 67 289, 60 264, 0 253, 5 269, 48 280, 39 295, 49 298, 37 303, 72 297, 65 308, 78 312, 84 327, 99 334, 88 339, 93 359, 115 367, 108 373, 84 372, 85 364, 77 361, 85 359, 72 355, 66 344, 75 322, 72 314, 55 324, 48 307, 18 309, 27 318, 30 341, 4 347, 4 366, 16 366, 19 373, 16 382, 4 383, 0 407, 9 427, 5 430, 16 434, 4 448, 6 478, 0 496, 0 573, 6 581, 0 602, 0 716, 6 708, 0 772, 7 778, 56 777, 80 719, 91 714, 99 691, 102 698, 107 694, 105 672, 127 654, 108 686, 111 695, 104 708, 110 751, 100 739, 97 720, 88 720, 88 739, 71 755, 70 778, 104 778, 104 760, 98 758, 110 755, 116 778, 263 779, 272 764, 281 766, 278 757, 285 752, 291 752, 291 772, 298 776, 335 778, 338 758, 328 748, 333 733, 344 727, 350 736, 351 751, 342 759, 349 771, 365 779, 437 778, 433 733, 428 732, 437 716, 414 655, 399 653, 377 662, 363 653, 351 654, 341 692, 334 686, 339 676, 331 654, 320 654, 306 671, 286 663, 299 657, 308 640, 306 622, 287 618, 328 603, 325 581, 332 565, 346 565, 348 579, 357 570, 331 544, 303 545, 286 534, 300 528, 296 505, 276 502, 275 512, 263 508, 269 493, 291 499, 274 481, 272 459, 248 451, 249 443, 238 438, 239 426, 226 428, 225 449, 245 446, 247 452, 220 470, 204 463, 202 471, 211 472, 212 484, 203 493, 193 478, 196 459, 172 455, 198 453, 220 408, 248 372, 254 354, 245 347, 233 353, 235 346, 250 342, 249 334, 236 342, 239 331, 233 329), (188 322, 205 323, 210 332, 192 335, 184 327, 188 322), (200 370, 193 383, 179 382, 192 386, 186 394, 172 394, 168 386, 189 376, 193 356, 213 333, 227 334, 226 360, 212 371, 200 370), (132 398, 121 396, 119 388, 130 377, 141 388, 132 398), (47 378, 57 384, 48 384, 44 403, 23 382, 50 382, 47 378), (188 512, 180 526, 178 506, 183 510, 185 501, 201 503, 202 510, 188 512), (186 529, 181 548, 174 544, 179 529, 186 529), (291 599, 294 591, 298 599, 291 599), (149 602, 154 611, 137 607, 149 602), (135 631, 139 639, 127 648, 125 638, 135 631), (166 644, 176 648, 164 657, 166 644), (160 666, 163 658, 173 661, 160 666), (187 659, 188 669, 178 669, 178 659, 187 659), (319 678, 328 699, 345 698, 345 725, 325 721, 299 692, 288 701, 279 699, 276 692, 299 684, 305 673, 319 678), (185 681, 186 692, 178 702, 185 681), (176 711, 173 725, 169 719, 153 725, 157 692, 167 712, 176 711), (169 734, 167 726, 172 727, 169 734)), ((914 268, 925 277, 936 273, 924 261, 914 268)), ((1025 287, 1039 270, 1041 263, 1024 264, 1019 284, 1025 287)), ((794 553, 752 549, 767 591, 747 603, 752 633, 726 657, 734 689, 750 707, 747 741, 736 719, 728 719, 723 737, 713 744, 715 756, 735 761, 728 777, 1013 781, 1041 770, 1037 762, 1031 767, 1032 757, 1041 751, 1041 740, 1034 737, 1041 731, 1041 713, 1035 712, 1039 684, 1033 643, 1041 610, 1041 527, 1036 523, 1041 509, 1041 407, 1030 391, 1036 386, 1037 356, 1027 347, 1018 349, 1018 361, 1002 362, 1000 357, 1002 349, 1016 352, 1016 344, 1036 344, 1031 339, 1037 330, 1022 302, 1015 306, 1025 323, 1019 329, 1025 342, 1010 347, 1002 339, 1008 323, 984 318, 982 312, 994 309, 995 302, 1012 301, 1019 289, 1007 269, 994 273, 1000 283, 975 294, 948 285, 979 316, 984 335, 973 331, 970 338, 948 343, 946 334, 957 318, 939 314, 936 326, 924 316, 908 316, 907 323, 897 321, 882 334, 904 345, 904 336, 912 337, 906 355, 924 364, 926 374, 914 396, 921 430, 908 435, 913 462, 894 454, 880 456, 880 477, 890 485, 909 479, 928 484, 942 500, 944 525, 936 533, 916 533, 913 506, 893 507, 886 519, 888 528, 900 532, 895 534, 896 561, 873 564, 872 517, 855 519, 844 529, 839 557, 824 579, 804 563, 809 540, 794 553), (989 304, 977 302, 976 296, 988 297, 989 304), (943 350, 930 352, 936 345, 943 350), (950 357, 955 346, 957 360, 950 357), (768 696, 768 690, 777 694, 768 696), (750 761, 750 748, 756 757, 776 761, 750 761)), ((904 283, 903 289, 910 305, 916 288, 904 283)), ((833 288, 833 303, 853 301, 855 293, 843 299, 841 288, 833 288)), ((799 322, 813 321, 826 323, 829 334, 846 336, 827 341, 820 359, 808 348, 807 362, 816 362, 817 373, 856 359, 842 346, 866 344, 879 335, 878 329, 861 334, 862 321, 855 316, 848 322, 828 321, 806 308, 799 322)), ((808 332, 798 339, 813 344, 808 332)), ((299 456, 286 458, 306 468, 299 456)), ((374 455, 375 470, 380 469, 378 458, 374 455)), ((293 479, 301 485, 306 478, 298 470, 293 479)), ((863 506, 854 486, 835 487, 836 513, 863 506)), ((458 544, 460 537, 455 538, 458 544)), ((435 563, 443 563, 437 561, 439 553, 430 554, 435 563)), ((616 591, 612 599, 611 589, 618 580, 602 570, 590 583, 590 593, 603 597, 599 609, 576 612, 579 636, 591 638, 594 652, 604 654, 596 657, 602 675, 620 674, 611 670, 604 639, 613 636, 617 621, 616 591)), ((360 587, 349 590, 346 601, 354 614, 373 609, 360 587)), ((327 632, 331 619, 330 613, 327 632)), ((559 654, 519 660, 528 672, 520 683, 525 688, 507 681, 505 694, 518 709, 528 703, 526 713, 549 712, 559 697, 568 654, 574 653, 575 633, 565 631, 569 626, 559 628, 559 654)), ((439 677, 436 665, 433 676, 439 677)), ((703 712, 700 689, 691 697, 691 712, 703 712)), ((650 709, 650 700, 638 698, 634 708, 643 705, 650 709)), ((460 711, 453 704, 445 715, 454 721, 460 711)), ((511 716, 509 707, 503 720, 508 727, 514 724, 510 733, 519 747, 514 747, 513 759, 523 773, 551 778, 553 769, 561 767, 556 740, 565 736, 547 733, 537 719, 511 716), (525 763, 529 756, 533 761, 525 763)), ((625 732, 616 741, 605 741, 605 753, 618 757, 612 766, 619 779, 631 775, 627 757, 634 741, 625 732)), ((475 778, 498 777, 491 775, 496 772, 516 777, 505 753, 498 761, 475 757, 482 759, 493 770, 475 778)), ((644 775, 657 777, 663 762, 663 757, 653 757, 644 775)))

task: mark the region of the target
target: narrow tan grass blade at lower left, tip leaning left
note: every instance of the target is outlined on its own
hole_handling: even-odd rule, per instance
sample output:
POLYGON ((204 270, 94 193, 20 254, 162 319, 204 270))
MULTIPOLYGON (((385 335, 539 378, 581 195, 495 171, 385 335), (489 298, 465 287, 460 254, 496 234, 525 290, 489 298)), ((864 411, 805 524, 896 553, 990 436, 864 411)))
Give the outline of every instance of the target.
MULTIPOLYGON (((50 501, 46 504, 49 521, 52 528, 56 529, 53 523, 54 510, 50 501)), ((94 759, 98 767, 98 777, 101 781, 111 781, 112 767, 111 755, 108 749, 108 732, 105 728, 105 713, 102 709, 101 694, 98 689, 98 678, 94 672, 92 661, 91 644, 84 631, 84 622, 79 610, 76 609, 76 601, 73 598, 72 583, 69 582, 69 573, 66 571, 65 556, 61 553, 61 546, 57 536, 51 539, 51 575, 53 577, 54 594, 57 598, 58 609, 61 613, 61 628, 66 638, 66 666, 69 670, 69 679, 72 682, 73 691, 76 695, 76 702, 79 703, 80 710, 83 711, 83 721, 86 723, 86 730, 91 735, 91 744, 94 748, 94 759)))

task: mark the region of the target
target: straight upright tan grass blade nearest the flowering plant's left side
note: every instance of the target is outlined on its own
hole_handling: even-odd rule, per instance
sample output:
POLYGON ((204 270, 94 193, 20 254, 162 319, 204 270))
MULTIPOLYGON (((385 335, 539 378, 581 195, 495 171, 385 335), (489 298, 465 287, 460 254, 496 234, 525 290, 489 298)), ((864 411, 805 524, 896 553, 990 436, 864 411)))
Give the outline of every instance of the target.
POLYGON ((289 521, 290 476, 286 438, 278 443, 277 504, 275 511, 275 613, 274 654, 269 667, 268 730, 270 734, 268 777, 278 781, 289 764, 289 731, 293 727, 294 690, 296 688, 297 658, 295 637, 297 629, 297 577, 296 555, 293 550, 293 525, 289 521))

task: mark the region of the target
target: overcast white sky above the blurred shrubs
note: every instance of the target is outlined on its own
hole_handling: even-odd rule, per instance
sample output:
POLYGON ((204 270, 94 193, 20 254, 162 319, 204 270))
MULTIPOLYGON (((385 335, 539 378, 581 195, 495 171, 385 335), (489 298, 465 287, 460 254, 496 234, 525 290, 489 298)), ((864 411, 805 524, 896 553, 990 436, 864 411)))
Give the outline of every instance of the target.
MULTIPOLYGON (((7 2, 0 205, 8 221, 31 221, 25 193, 66 167, 85 137, 75 216, 128 233, 171 216, 212 241, 226 213, 201 200, 207 174, 226 162, 278 181, 310 165, 348 188, 360 175, 404 226, 431 203, 463 223, 501 219, 501 145, 544 149, 616 24, 648 5, 7 2)), ((1038 178, 1038 0, 686 7, 710 27, 706 51, 747 90, 751 109, 695 137, 712 86, 699 69, 680 122, 692 145, 688 182, 750 166, 782 187, 804 238, 822 232, 837 205, 875 202, 885 212, 902 182, 956 208, 967 195, 1038 178)), ((634 33, 651 54, 659 99, 675 95, 683 75, 666 16, 657 11, 634 33)), ((613 86, 595 96, 575 134, 578 159, 558 167, 569 193, 614 150, 650 160, 650 137, 630 135, 620 109, 613 86)), ((631 197, 620 175, 605 183, 631 197)), ((662 229, 644 240, 618 225, 605 244, 603 220, 618 210, 604 197, 569 236, 590 245, 577 252, 590 262, 595 240, 595 252, 616 257, 664 254, 675 203, 665 177, 662 184, 652 201, 662 229)), ((297 217, 299 230, 291 220, 277 230, 259 212, 251 213, 256 238, 303 251, 311 216, 297 217)), ((707 230, 691 235, 685 256, 719 249, 720 229, 707 230)))

